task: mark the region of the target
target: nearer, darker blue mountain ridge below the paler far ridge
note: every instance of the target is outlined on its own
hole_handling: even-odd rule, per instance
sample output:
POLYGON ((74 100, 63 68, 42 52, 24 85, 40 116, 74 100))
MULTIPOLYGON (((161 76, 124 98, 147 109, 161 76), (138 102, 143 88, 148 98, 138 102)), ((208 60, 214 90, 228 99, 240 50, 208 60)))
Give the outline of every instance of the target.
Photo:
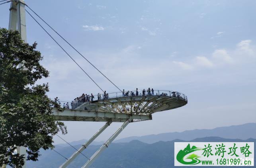
MULTIPOLYGON (((152 144, 140 142, 138 140, 130 141, 129 143, 112 143, 102 155, 92 164, 92 168, 173 168, 174 167, 174 142, 184 142, 179 139, 174 141, 159 141, 152 144)), ((189 142, 254 142, 256 139, 223 139, 220 137, 205 137, 197 138, 189 142)), ((81 145, 74 146, 75 148, 81 145)), ((256 151, 254 145, 254 151, 256 151)), ((100 145, 90 145, 83 154, 92 156, 100 145)), ((75 150, 68 147, 58 146, 55 148, 65 157, 69 157, 75 150)), ((58 168, 65 159, 52 150, 40 150, 42 156, 39 161, 27 162, 27 168, 58 168)), ((68 166, 69 168, 80 168, 86 162, 86 158, 82 154, 68 166)), ((255 162, 255 159, 254 159, 255 162)), ((203 168, 217 168, 203 167, 203 168)), ((232 166, 233 167, 233 166, 232 166)), ((240 166, 236 167, 239 168, 240 166)), ((182 167, 181 167, 182 168, 182 167)), ((184 167, 188 168, 188 166, 184 167)), ((202 166, 195 166, 193 168, 202 168, 202 166)), ((222 168, 222 167, 220 167, 222 168)), ((227 168, 225 166, 225 168, 227 168)), ((243 167, 241 167, 243 168, 243 167)))

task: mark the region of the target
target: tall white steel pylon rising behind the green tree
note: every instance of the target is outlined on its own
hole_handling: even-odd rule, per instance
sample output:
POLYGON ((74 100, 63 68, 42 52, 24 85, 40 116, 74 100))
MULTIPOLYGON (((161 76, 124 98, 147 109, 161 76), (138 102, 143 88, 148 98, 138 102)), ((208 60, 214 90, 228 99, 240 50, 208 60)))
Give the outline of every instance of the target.
MULTIPOLYGON (((25 2, 24 0, 13 0, 10 6, 9 30, 17 30, 20 32, 21 39, 27 42, 26 34, 26 20, 25 20, 25 2)), ((21 67, 21 64, 19 65, 21 67)), ((24 154, 25 164, 22 168, 26 167, 26 148, 17 147, 17 153, 24 154)))

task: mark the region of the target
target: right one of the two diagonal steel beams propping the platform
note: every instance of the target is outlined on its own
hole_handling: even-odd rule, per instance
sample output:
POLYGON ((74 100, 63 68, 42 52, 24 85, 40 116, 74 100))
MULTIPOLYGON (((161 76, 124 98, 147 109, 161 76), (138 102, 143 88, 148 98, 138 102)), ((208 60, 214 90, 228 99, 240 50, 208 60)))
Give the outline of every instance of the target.
POLYGON ((92 155, 90 160, 88 160, 82 168, 88 168, 94 161, 95 159, 110 145, 111 142, 123 131, 123 129, 131 122, 131 120, 127 120, 123 123, 123 125, 117 129, 117 131, 104 143, 97 152, 92 155))

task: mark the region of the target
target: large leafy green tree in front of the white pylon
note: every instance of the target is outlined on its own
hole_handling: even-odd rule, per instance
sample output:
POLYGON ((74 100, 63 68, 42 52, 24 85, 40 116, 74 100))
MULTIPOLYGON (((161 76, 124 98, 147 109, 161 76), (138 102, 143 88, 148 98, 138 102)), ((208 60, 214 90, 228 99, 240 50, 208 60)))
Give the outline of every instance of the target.
POLYGON ((53 105, 62 109, 46 95, 48 84, 35 84, 49 76, 36 46, 24 43, 18 31, 0 29, 0 167, 24 164, 17 146, 27 148, 26 160, 36 161, 40 148, 54 148, 53 135, 67 133, 51 112, 53 105))

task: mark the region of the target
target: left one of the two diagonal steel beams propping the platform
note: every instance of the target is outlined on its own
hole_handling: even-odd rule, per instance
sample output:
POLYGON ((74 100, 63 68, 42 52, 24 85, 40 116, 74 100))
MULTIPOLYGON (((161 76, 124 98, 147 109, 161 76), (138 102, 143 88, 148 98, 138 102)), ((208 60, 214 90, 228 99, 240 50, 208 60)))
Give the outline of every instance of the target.
POLYGON ((84 145, 82 145, 78 151, 74 152, 74 154, 72 154, 70 158, 68 158, 68 160, 66 160, 66 162, 64 162, 59 168, 65 168, 68 166, 68 164, 70 164, 76 158, 76 156, 78 156, 79 153, 87 148, 90 143, 92 143, 92 141, 94 141, 94 139, 96 139, 111 123, 111 121, 107 122, 96 134, 94 134, 86 143, 84 143, 84 145))

